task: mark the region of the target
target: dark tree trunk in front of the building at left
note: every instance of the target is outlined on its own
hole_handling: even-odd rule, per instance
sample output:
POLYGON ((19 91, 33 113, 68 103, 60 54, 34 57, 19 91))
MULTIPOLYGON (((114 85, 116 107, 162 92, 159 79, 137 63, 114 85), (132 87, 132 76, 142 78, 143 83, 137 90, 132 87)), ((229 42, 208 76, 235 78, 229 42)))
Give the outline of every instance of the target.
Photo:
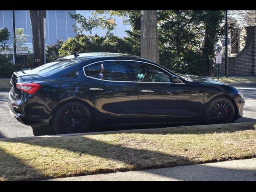
POLYGON ((34 67, 44 64, 44 18, 46 18, 46 10, 30 10, 29 11, 34 67))

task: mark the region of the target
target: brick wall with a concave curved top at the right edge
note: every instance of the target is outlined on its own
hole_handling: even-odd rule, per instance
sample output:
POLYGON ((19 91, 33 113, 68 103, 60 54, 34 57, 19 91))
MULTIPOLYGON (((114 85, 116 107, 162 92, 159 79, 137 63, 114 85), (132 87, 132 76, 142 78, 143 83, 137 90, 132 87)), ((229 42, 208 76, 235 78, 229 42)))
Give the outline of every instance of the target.
MULTIPOLYGON (((244 49, 236 56, 228 57, 228 76, 250 76, 256 75, 256 27, 246 27, 247 38, 244 49)), ((217 64, 215 58, 210 64, 210 74, 217 75, 217 64)), ((225 57, 219 66, 220 76, 225 75, 225 57)))

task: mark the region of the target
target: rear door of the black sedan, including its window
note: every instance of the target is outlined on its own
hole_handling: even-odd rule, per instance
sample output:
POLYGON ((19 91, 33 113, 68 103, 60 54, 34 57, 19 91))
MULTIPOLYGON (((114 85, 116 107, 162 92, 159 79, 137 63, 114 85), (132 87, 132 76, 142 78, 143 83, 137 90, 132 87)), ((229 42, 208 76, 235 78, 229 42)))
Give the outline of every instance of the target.
POLYGON ((86 92, 100 123, 126 124, 138 121, 138 90, 128 79, 123 61, 96 62, 84 67, 86 92))

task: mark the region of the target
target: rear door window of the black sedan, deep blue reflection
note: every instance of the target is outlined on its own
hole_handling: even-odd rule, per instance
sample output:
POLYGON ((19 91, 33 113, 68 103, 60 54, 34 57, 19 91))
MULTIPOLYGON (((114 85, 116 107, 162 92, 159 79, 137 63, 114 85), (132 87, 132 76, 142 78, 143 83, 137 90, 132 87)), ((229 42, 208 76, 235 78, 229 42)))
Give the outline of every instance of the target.
POLYGON ((98 62, 85 68, 86 76, 112 81, 129 81, 122 61, 98 62))

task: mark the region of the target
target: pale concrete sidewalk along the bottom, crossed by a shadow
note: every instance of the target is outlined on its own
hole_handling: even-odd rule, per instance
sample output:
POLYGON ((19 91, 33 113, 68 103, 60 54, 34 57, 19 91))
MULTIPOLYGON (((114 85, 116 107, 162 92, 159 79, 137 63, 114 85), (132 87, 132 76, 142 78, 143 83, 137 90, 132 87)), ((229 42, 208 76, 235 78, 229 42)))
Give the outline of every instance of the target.
POLYGON ((256 181, 256 158, 44 181, 256 181))

